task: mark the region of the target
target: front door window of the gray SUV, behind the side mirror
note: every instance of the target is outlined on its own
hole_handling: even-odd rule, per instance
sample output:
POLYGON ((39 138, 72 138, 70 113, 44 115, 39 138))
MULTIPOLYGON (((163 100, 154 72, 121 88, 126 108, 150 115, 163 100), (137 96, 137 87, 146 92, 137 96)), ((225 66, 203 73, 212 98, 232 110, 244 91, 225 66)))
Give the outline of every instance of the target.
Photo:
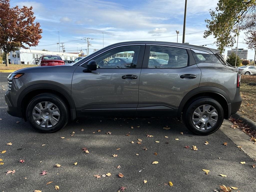
POLYGON ((98 68, 136 68, 139 52, 140 45, 122 46, 106 51, 93 59, 98 68))

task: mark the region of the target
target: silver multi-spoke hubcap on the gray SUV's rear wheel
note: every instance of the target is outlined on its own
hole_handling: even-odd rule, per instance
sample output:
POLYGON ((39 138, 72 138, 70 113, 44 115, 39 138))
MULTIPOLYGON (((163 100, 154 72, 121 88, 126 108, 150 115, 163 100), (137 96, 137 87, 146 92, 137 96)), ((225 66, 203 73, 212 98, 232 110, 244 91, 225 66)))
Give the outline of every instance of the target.
POLYGON ((193 124, 197 129, 211 129, 218 120, 218 112, 211 105, 201 105, 192 115, 193 124))

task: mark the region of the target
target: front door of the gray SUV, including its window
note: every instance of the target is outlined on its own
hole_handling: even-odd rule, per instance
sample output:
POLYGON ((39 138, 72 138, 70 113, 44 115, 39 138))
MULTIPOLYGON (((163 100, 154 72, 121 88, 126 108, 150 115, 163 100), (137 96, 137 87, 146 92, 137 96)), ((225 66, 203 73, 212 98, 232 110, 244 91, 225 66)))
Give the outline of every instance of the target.
POLYGON ((71 90, 77 115, 135 116, 144 50, 145 45, 119 46, 78 66, 73 74, 71 90), (108 65, 108 61, 124 52, 133 57, 131 63, 108 65), (98 66, 97 70, 88 72, 86 66, 91 60, 95 60, 98 66))

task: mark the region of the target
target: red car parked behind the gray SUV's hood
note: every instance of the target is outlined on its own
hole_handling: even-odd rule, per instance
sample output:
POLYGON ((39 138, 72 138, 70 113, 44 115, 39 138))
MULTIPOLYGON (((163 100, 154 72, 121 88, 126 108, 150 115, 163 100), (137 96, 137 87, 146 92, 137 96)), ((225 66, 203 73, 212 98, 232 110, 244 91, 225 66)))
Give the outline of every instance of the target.
POLYGON ((58 55, 43 55, 40 57, 37 66, 65 65, 65 62, 58 55))

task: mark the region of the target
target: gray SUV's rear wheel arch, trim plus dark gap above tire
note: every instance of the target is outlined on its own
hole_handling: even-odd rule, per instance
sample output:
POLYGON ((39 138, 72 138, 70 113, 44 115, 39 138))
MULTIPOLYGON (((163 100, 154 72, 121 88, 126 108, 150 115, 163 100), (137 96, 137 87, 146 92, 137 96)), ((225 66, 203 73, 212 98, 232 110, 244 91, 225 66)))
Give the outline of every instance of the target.
POLYGON ((200 97, 210 97, 217 100, 223 108, 224 118, 228 119, 230 117, 231 100, 228 94, 225 91, 221 90, 220 88, 210 87, 210 86, 198 87, 188 92, 180 102, 177 117, 180 118, 180 116, 182 115, 182 112, 186 109, 188 103, 191 100, 194 100, 200 97))

